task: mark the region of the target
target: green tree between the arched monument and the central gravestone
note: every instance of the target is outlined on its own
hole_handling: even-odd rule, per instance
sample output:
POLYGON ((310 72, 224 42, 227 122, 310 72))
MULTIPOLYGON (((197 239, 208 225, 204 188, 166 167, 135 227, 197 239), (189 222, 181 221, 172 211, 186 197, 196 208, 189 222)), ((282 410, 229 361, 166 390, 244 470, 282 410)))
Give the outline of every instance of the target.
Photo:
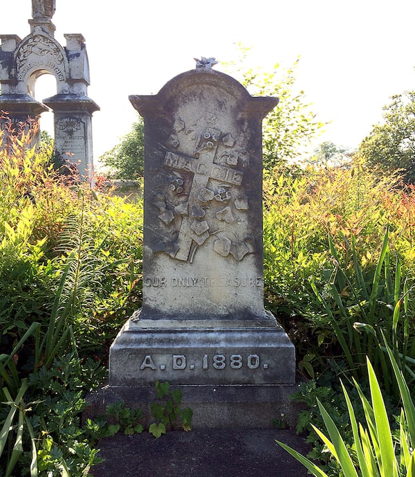
POLYGON ((100 161, 110 168, 114 179, 136 179, 144 170, 144 123, 142 118, 133 123, 131 131, 120 143, 100 156, 100 161))

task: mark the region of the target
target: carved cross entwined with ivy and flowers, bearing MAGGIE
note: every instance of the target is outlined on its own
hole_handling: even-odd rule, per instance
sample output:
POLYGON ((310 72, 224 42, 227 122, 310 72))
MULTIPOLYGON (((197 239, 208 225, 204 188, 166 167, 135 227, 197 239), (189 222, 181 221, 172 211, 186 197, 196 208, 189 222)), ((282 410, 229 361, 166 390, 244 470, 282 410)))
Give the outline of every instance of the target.
POLYGON ((198 130, 176 118, 163 159, 167 183, 153 201, 160 226, 172 237, 162 245, 172 258, 192 262, 196 249, 207 246, 210 237, 208 246, 223 257, 240 261, 254 251, 252 239, 240 235, 246 233, 239 225, 246 224, 249 209, 243 191, 248 158, 235 147, 235 136, 215 127, 198 130), (192 155, 178 151, 181 141, 192 141, 192 155))

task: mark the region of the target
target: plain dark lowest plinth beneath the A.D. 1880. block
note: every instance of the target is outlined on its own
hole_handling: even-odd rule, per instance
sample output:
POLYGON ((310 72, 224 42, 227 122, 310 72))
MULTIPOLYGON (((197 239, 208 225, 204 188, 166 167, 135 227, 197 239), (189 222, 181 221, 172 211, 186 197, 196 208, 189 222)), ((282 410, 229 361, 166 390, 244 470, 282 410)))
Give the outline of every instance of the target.
MULTIPOLYGON (((295 429, 302 405, 291 395, 299 384, 173 386, 183 393, 182 407, 193 411, 193 429, 295 429)), ((157 402, 154 386, 105 386, 87 397, 84 418, 105 414, 109 404, 124 402, 141 408, 146 427, 154 422, 151 403, 157 402)))

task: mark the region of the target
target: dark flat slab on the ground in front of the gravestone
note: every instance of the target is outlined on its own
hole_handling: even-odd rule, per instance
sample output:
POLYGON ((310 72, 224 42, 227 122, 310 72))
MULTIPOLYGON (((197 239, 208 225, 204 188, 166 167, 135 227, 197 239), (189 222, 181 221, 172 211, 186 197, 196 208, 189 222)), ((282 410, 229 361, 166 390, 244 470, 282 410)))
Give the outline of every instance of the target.
POLYGON ((118 434, 98 443, 105 462, 94 477, 306 477, 307 471, 279 447, 303 455, 304 440, 289 430, 197 429, 170 431, 159 439, 145 432, 118 434))

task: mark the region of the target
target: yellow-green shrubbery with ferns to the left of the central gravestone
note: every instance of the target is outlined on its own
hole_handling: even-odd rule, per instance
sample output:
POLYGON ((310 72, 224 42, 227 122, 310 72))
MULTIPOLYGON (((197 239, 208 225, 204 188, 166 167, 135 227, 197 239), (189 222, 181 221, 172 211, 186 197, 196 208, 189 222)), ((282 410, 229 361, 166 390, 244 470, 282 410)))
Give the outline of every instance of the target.
POLYGON ((105 347, 140 305, 142 207, 57 174, 50 151, 35 154, 25 132, 8 137, 0 150, 0 474, 85 476, 98 451, 80 424, 84 395, 102 383, 105 347))

